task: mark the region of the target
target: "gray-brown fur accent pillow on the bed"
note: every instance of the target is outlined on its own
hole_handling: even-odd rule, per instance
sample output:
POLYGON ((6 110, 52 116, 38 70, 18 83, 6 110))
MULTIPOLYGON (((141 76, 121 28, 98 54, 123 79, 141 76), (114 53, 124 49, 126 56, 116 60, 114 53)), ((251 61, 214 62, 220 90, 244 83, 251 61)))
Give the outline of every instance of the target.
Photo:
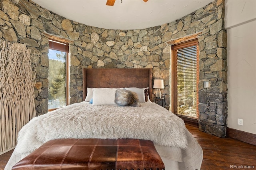
POLYGON ((124 89, 116 90, 115 103, 119 106, 141 107, 137 93, 124 89))

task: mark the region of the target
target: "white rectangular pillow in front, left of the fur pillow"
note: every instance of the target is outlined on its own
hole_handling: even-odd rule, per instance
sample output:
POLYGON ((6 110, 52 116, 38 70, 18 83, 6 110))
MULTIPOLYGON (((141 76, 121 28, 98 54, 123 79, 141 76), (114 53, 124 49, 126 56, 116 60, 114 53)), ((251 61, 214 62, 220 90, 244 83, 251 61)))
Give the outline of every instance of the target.
POLYGON ((92 105, 116 105, 116 88, 93 88, 92 105))

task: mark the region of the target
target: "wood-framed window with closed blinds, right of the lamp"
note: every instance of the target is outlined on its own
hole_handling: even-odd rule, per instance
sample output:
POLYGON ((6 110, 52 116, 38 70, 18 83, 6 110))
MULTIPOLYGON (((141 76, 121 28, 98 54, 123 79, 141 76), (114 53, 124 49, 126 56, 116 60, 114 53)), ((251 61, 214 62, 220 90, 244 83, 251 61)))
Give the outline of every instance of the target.
POLYGON ((198 40, 172 46, 172 112, 198 119, 198 40))

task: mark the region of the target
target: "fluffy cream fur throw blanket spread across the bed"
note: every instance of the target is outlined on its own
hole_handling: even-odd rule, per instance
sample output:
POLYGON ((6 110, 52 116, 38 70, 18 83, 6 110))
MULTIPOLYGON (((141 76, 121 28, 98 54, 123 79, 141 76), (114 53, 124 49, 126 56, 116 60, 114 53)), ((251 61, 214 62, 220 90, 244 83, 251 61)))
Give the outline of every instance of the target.
POLYGON ((13 154, 32 152, 57 138, 139 138, 162 146, 187 147, 182 119, 155 103, 141 105, 92 106, 81 102, 34 117, 20 130, 13 154))

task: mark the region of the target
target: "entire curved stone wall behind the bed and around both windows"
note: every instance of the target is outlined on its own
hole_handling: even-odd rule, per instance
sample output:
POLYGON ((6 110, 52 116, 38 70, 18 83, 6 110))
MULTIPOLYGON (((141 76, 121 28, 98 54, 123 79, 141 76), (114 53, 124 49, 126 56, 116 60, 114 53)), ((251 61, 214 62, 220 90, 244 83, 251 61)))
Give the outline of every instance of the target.
POLYGON ((28 0, 1 0, 0 8, 0 38, 24 43, 38 56, 33 60, 37 65, 37 115, 48 111, 49 34, 70 41, 70 104, 82 101, 82 67, 153 68, 153 79, 164 79, 162 94, 165 107, 169 109, 170 45, 166 42, 202 32, 198 38, 200 130, 225 136, 227 55, 222 0, 174 22, 142 30, 106 30, 86 26, 28 0), (202 87, 206 80, 211 84, 208 89, 202 87))

